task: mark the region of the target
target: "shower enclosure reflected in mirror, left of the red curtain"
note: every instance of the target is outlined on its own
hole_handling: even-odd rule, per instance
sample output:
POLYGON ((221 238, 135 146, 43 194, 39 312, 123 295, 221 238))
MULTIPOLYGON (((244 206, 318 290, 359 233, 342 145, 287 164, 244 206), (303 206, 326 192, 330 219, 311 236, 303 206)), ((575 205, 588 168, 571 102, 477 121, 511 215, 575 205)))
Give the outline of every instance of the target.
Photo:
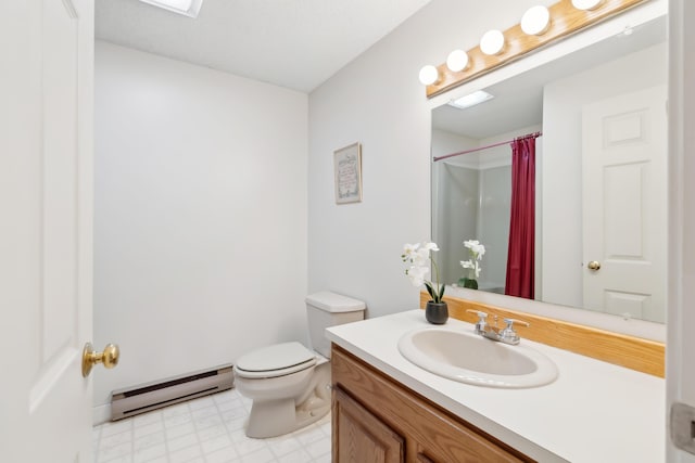
MULTIPOLYGON (((539 129, 540 124, 481 140, 433 129, 433 153, 444 152, 452 145, 466 146, 464 151, 470 151, 438 159, 432 169, 433 197, 437 197, 433 229, 438 243, 446 249, 440 257, 446 284, 459 284, 462 276, 470 274, 460 263, 471 258, 463 242, 477 240, 485 248, 479 260, 478 288, 505 294, 511 214, 511 147, 498 140, 508 141, 539 129)), ((536 141, 536 162, 542 152, 540 140, 536 141)), ((434 158, 438 157, 434 154, 434 158)))

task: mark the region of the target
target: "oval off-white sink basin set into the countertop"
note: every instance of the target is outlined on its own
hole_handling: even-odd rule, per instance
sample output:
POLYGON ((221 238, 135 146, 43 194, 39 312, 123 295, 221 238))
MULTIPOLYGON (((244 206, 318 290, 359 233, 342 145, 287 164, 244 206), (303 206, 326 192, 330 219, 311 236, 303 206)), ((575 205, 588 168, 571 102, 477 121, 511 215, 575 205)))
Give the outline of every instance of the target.
POLYGON ((557 378, 555 363, 532 348, 451 329, 428 327, 406 333, 399 340, 399 350, 430 373, 477 386, 538 387, 557 378))

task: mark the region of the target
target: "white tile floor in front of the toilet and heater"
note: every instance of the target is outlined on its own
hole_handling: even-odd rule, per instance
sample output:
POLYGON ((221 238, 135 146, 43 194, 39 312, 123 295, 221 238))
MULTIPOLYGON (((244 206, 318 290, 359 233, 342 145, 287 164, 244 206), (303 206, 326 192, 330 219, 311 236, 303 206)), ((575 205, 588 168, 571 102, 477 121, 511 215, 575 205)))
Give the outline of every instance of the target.
POLYGON ((94 463, 330 463, 330 413, 270 439, 250 439, 251 402, 236 389, 93 430, 94 463))

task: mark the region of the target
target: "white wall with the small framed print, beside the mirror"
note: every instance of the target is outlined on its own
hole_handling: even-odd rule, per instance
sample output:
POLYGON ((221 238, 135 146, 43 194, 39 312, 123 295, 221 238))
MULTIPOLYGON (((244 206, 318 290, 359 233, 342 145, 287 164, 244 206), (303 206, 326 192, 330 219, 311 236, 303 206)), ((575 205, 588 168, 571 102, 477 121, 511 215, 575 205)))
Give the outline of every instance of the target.
POLYGON ((400 255, 430 236, 430 105, 418 72, 535 3, 433 0, 309 95, 309 291, 362 298, 369 317, 417 307, 400 255), (364 201, 337 206, 332 153, 355 141, 364 201))

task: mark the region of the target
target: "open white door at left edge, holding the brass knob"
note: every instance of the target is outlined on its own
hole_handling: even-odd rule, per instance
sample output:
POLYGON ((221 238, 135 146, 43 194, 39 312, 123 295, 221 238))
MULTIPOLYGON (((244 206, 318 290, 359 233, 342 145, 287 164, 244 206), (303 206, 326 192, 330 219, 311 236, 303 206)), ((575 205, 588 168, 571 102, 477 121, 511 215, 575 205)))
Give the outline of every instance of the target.
POLYGON ((0 461, 91 462, 93 0, 0 16, 0 461))

